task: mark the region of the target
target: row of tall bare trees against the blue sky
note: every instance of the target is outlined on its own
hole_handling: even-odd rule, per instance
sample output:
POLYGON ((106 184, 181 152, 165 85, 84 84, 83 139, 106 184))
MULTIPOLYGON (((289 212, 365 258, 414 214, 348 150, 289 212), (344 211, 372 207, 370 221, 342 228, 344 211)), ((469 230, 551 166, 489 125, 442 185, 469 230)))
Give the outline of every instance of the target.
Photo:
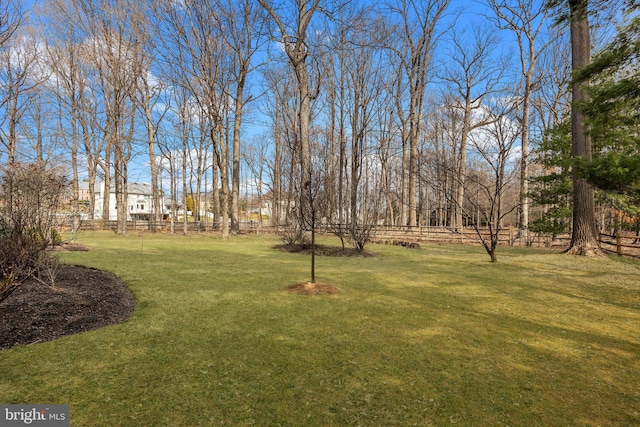
MULTIPOLYGON (((75 209, 82 179, 126 205, 144 163, 156 207, 163 190, 200 206, 210 189, 223 236, 239 230, 241 179, 253 174, 276 221, 297 207, 307 225, 353 230, 510 222, 529 241, 556 207, 532 210, 530 178, 558 167, 539 161, 551 153, 544 136, 570 111, 583 120, 570 108, 582 102, 579 90, 570 99, 571 58, 588 62, 593 9, 486 0, 472 22, 465 4, 50 0, 20 14, 9 3, 0 23, 19 29, 0 37, 3 161, 68 163, 75 209), (556 22, 565 11, 570 25, 556 22), (570 57, 568 46, 586 50, 570 57)), ((591 185, 585 168, 565 169, 576 192, 591 185)), ((577 212, 595 212, 587 193, 577 212)), ((593 236, 595 216, 585 221, 593 236)), ((118 224, 125 233, 124 209, 118 224)))

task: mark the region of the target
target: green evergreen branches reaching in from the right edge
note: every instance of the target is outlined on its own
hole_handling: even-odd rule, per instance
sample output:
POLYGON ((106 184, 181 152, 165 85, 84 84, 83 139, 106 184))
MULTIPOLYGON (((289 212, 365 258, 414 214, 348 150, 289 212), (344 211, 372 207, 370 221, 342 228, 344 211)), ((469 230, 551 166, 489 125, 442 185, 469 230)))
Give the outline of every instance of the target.
POLYGON ((640 201, 640 4, 627 3, 628 23, 577 73, 576 81, 592 82, 582 109, 595 153, 582 165, 584 175, 608 193, 614 207, 635 216, 640 201))

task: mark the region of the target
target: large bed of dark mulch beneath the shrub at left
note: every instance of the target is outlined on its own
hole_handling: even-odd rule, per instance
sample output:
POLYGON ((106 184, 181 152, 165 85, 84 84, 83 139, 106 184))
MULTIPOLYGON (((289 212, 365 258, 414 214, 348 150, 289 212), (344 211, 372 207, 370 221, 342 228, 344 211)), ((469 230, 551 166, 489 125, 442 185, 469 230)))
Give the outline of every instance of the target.
POLYGON ((0 302, 0 349, 120 323, 134 310, 131 291, 115 275, 62 265, 55 287, 30 280, 0 302))

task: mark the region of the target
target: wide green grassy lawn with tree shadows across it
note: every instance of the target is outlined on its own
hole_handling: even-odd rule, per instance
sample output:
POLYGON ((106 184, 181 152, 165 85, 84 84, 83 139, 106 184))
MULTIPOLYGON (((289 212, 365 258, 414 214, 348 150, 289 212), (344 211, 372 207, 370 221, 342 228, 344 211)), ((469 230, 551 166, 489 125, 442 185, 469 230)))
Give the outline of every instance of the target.
POLYGON ((640 425, 638 262, 371 245, 318 258, 340 292, 301 296, 309 260, 277 237, 79 241, 64 261, 137 311, 1 351, 0 402, 69 403, 72 426, 640 425))

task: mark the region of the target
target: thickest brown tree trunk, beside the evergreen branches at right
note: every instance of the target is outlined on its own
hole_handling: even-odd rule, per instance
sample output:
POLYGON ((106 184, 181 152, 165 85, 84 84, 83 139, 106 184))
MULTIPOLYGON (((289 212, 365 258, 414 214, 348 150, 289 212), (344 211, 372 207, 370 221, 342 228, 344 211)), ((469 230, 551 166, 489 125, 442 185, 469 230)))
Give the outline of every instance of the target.
MULTIPOLYGON (((577 70, 589 64, 590 39, 587 16, 587 0, 569 0, 571 12, 571 53, 572 69, 577 70)), ((571 153, 574 158, 591 160, 591 138, 585 129, 584 114, 579 105, 587 99, 585 85, 575 83, 571 99, 571 153)), ((595 218, 594 190, 592 185, 573 172, 573 231, 568 253, 594 255, 599 252, 595 218)))

